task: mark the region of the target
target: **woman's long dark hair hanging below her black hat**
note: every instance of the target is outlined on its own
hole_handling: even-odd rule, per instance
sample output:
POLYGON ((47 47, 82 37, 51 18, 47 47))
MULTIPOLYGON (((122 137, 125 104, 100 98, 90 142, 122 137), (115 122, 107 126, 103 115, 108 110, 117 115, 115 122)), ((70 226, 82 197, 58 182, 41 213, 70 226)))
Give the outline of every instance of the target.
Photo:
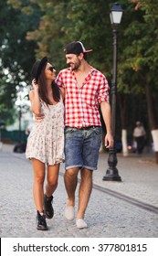
MULTIPOLYGON (((47 105, 49 105, 51 103, 47 98, 47 86, 46 86, 47 80, 46 80, 46 76, 45 76, 46 65, 43 67, 43 69, 39 75, 39 79, 38 79, 37 83, 39 85, 39 96, 40 96, 41 100, 44 101, 47 105)), ((51 88, 53 91, 54 101, 56 101, 56 102, 60 101, 60 89, 59 89, 57 83, 55 82, 55 80, 52 82, 51 88)))

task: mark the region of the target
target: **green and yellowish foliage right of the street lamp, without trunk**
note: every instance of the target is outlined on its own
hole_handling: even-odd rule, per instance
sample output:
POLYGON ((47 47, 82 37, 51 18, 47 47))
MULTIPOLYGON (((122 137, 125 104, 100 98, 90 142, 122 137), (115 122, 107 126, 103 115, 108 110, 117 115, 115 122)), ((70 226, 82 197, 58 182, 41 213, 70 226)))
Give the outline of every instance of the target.
MULTIPOLYGON (((124 29, 124 37, 126 38, 126 47, 123 49, 122 58, 126 59, 121 64, 121 74, 134 71, 133 76, 137 80, 137 92, 144 90, 140 78, 146 77, 146 81, 153 81, 153 88, 158 89, 155 77, 158 68, 158 8, 157 1, 130 1, 136 2, 136 10, 130 23, 124 29), (142 87, 142 90, 141 88, 142 87)), ((127 78, 127 74, 125 77, 127 78)), ((123 82, 123 77, 121 77, 123 82)), ((135 89, 133 89, 135 91, 135 89)))

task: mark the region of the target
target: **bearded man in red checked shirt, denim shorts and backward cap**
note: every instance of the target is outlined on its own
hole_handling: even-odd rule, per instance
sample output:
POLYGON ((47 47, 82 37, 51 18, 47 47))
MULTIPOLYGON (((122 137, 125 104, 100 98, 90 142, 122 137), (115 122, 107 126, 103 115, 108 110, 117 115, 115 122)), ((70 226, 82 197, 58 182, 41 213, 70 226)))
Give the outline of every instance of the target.
POLYGON ((68 202, 65 216, 75 217, 75 191, 79 185, 79 208, 76 225, 87 228, 84 220, 92 189, 92 172, 97 169, 101 143, 100 110, 106 125, 105 146, 113 144, 109 85, 104 75, 87 62, 87 53, 79 41, 69 43, 65 50, 68 69, 58 73, 58 86, 65 89, 65 187, 68 202))

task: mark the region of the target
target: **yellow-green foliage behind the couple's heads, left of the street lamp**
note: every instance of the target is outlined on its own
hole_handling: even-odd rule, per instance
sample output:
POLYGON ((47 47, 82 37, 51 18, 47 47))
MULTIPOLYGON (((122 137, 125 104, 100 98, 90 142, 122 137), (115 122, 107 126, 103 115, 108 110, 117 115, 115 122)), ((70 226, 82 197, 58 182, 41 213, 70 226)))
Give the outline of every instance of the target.
MULTIPOLYGON (((24 2, 24 1, 23 1, 24 2)), ((111 73, 111 25, 109 4, 96 1, 37 1, 42 12, 36 30, 27 32, 28 40, 37 41, 37 58, 47 55, 59 69, 65 67, 63 48, 72 40, 80 40, 87 48, 93 48, 91 65, 106 75, 111 73), (107 18, 108 16, 108 18, 107 18)), ((26 6, 23 6, 23 11, 26 6)))

